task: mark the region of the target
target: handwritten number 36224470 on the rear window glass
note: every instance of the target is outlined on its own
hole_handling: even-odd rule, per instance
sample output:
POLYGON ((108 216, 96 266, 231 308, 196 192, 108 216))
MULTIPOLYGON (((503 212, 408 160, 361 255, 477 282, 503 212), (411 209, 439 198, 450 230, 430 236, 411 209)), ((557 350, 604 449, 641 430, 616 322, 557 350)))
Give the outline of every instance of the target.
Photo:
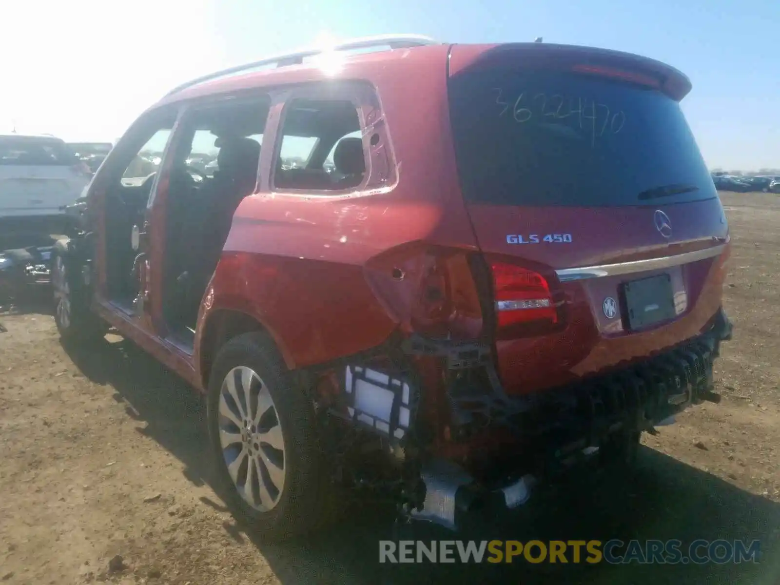
POLYGON ((617 134, 626 124, 626 114, 622 110, 613 113, 608 105, 587 98, 523 92, 507 101, 501 88, 496 87, 494 91, 495 103, 502 108, 498 116, 512 115, 519 124, 534 116, 550 121, 570 119, 581 130, 589 131, 591 140, 605 133, 617 134))

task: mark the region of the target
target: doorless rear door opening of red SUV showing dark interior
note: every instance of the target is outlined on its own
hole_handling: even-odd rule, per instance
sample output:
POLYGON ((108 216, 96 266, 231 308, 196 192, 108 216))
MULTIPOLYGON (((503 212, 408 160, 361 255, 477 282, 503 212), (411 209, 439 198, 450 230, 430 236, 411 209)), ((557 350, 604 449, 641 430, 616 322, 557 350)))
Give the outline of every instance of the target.
POLYGON ((233 214, 257 185, 267 118, 268 100, 232 102, 193 112, 180 130, 165 213, 163 307, 168 328, 187 342, 233 214), (200 152, 215 151, 211 174, 186 165, 200 152))

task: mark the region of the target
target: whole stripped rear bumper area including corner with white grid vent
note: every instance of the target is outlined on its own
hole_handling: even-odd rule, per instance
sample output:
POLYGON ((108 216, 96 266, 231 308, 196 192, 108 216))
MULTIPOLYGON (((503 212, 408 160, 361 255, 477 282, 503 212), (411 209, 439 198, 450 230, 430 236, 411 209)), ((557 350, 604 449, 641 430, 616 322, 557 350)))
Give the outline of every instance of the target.
POLYGON ((524 395, 504 392, 489 346, 414 336, 309 373, 332 380, 318 410, 334 479, 390 496, 403 517, 456 529, 474 509, 516 509, 563 474, 635 453, 641 432, 688 406, 719 402, 712 368, 731 336, 718 310, 678 346, 524 395))

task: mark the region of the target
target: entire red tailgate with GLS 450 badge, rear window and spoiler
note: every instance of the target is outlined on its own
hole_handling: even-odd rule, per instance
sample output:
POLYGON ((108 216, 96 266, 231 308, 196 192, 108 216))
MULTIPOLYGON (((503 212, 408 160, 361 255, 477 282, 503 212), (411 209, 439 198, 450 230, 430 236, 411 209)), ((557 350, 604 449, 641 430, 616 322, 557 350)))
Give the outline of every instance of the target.
POLYGON ((614 51, 452 48, 459 176, 510 390, 682 342, 718 309, 728 225, 675 69, 614 51))

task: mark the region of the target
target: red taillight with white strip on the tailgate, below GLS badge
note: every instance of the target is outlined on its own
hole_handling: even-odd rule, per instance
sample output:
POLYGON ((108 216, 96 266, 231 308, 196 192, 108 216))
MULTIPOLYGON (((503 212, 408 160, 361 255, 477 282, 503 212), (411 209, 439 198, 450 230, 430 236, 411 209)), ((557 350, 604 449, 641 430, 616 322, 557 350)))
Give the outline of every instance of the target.
POLYGON ((527 268, 495 262, 491 271, 498 328, 534 321, 558 323, 558 309, 544 276, 527 268))

